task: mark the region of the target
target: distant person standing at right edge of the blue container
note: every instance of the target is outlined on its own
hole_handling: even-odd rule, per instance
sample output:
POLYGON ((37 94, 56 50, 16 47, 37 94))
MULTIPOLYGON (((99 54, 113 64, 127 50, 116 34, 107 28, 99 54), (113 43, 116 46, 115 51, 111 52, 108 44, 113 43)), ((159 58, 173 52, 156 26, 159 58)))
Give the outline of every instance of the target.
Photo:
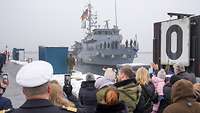
POLYGON ((69 54, 67 63, 68 63, 69 74, 72 74, 74 66, 76 65, 75 58, 72 56, 72 54, 69 54))

